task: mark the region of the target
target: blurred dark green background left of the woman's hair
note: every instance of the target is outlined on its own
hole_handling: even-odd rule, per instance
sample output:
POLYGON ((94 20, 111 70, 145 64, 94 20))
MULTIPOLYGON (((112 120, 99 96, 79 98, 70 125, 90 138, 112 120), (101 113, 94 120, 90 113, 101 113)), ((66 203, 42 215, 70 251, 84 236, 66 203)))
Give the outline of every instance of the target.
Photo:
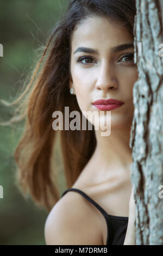
MULTIPOLYGON (((1 0, 0 98, 12 101, 21 89, 24 78, 33 64, 35 53, 44 45, 47 36, 66 8, 66 0, 1 0)), ((1 121, 12 117, 12 111, 0 105, 1 121)), ((44 227, 48 212, 24 199, 15 185, 16 164, 12 156, 21 136, 17 123, 0 126, 0 245, 45 245, 44 227)), ((61 176, 60 190, 65 189, 61 176)))

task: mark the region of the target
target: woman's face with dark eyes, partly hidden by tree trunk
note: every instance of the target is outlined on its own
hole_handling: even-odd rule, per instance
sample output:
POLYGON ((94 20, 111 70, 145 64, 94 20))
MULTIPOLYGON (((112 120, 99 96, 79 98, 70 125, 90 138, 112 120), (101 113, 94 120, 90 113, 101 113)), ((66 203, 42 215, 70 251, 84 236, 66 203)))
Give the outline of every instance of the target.
POLYGON ((102 17, 84 20, 71 38, 69 86, 74 89, 81 111, 102 111, 92 104, 99 99, 124 102, 111 110, 111 130, 131 126, 133 119, 133 86, 138 78, 134 47, 115 48, 133 45, 133 41, 126 28, 112 25, 102 17))

